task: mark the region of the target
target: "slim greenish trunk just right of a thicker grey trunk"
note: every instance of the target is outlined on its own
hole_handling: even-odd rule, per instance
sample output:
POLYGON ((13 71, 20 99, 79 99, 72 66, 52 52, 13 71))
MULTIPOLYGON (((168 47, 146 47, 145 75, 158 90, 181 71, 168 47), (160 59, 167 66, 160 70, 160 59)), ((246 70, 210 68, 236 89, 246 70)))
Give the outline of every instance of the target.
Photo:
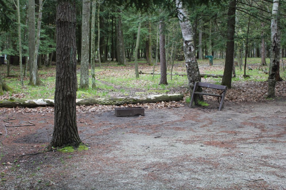
POLYGON ((92 19, 91 19, 91 78, 92 89, 96 88, 95 83, 95 15, 96 15, 96 0, 92 0, 92 19))

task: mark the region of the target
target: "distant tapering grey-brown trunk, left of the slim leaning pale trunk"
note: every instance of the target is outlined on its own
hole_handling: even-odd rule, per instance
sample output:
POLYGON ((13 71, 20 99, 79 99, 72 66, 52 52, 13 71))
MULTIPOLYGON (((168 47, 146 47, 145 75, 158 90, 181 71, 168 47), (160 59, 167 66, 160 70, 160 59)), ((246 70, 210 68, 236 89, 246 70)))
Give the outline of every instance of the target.
POLYGON ((121 15, 118 15, 118 53, 119 53, 119 65, 126 65, 126 56, 125 56, 125 47, 124 47, 124 38, 123 38, 123 28, 121 15))

